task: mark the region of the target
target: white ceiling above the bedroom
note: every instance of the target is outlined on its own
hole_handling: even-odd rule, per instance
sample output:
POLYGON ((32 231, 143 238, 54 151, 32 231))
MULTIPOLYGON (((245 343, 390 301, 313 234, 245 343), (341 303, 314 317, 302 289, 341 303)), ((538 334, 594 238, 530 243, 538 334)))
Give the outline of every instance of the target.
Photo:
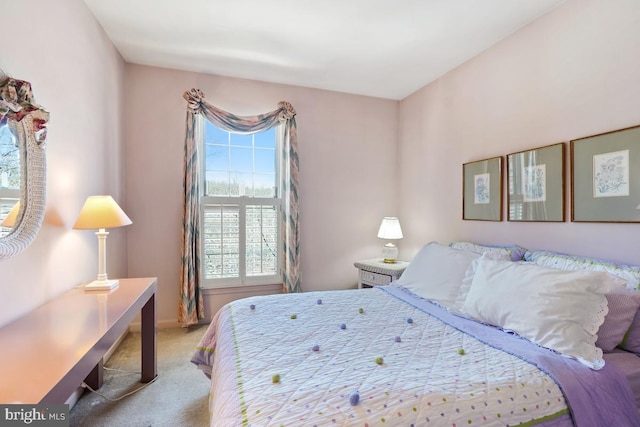
POLYGON ((127 62, 399 100, 565 0, 84 0, 127 62))

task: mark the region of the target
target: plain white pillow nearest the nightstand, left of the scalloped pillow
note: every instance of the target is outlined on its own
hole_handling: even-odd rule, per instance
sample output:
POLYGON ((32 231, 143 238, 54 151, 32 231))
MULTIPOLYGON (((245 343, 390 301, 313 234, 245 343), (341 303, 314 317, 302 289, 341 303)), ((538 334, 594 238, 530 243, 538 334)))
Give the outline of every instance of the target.
POLYGON ((465 273, 479 257, 470 251, 431 242, 418 251, 397 284, 424 299, 454 308, 465 273))

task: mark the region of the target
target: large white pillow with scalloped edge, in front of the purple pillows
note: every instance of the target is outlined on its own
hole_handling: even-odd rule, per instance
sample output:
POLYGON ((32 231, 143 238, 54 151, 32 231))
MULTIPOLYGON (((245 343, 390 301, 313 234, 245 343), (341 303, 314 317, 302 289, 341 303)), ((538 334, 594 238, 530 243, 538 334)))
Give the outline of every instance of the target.
POLYGON ((623 286, 618 279, 605 272, 483 259, 463 311, 600 369, 596 334, 608 311, 605 293, 623 286))

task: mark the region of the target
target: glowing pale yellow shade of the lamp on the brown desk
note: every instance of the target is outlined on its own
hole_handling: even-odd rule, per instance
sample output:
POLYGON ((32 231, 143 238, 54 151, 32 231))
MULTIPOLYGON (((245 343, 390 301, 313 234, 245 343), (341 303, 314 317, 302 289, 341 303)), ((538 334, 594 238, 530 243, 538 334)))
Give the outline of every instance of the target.
POLYGON ((114 228, 131 224, 131 220, 111 196, 89 196, 73 225, 75 230, 114 228))

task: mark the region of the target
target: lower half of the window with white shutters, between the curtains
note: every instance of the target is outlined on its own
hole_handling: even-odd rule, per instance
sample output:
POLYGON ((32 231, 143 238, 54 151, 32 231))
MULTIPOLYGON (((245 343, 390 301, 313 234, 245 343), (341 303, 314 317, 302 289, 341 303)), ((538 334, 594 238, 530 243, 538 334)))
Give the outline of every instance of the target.
POLYGON ((203 196, 201 201, 203 287, 280 283, 281 200, 203 196), (222 228, 225 224, 230 233, 222 228), (247 233, 248 228, 256 232, 247 233), (236 263, 238 268, 234 269, 236 263))

